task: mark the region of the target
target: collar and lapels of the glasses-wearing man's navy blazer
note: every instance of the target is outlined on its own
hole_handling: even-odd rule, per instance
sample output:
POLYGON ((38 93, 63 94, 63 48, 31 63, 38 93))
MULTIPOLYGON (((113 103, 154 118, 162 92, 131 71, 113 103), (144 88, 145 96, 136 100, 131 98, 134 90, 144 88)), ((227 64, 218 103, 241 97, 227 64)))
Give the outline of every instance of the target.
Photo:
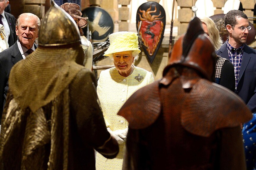
MULTIPOLYGON (((239 84, 239 81, 241 80, 241 77, 243 76, 244 71, 251 59, 250 51, 251 50, 250 50, 249 46, 244 44, 244 53, 243 53, 242 63, 241 63, 241 67, 240 67, 240 71, 239 71, 239 75, 238 75, 238 84, 239 84)), ((226 42, 223 43, 223 45, 220 47, 220 49, 216 53, 217 54, 219 53, 219 56, 229 60, 228 51, 227 51, 227 43, 226 42)))

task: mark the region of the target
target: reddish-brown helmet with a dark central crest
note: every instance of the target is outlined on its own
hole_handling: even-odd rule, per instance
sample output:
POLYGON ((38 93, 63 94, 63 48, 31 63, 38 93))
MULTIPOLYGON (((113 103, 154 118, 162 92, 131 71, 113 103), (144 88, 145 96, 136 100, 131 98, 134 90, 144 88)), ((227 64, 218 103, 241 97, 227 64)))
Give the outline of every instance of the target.
POLYGON ((195 17, 190 21, 187 33, 174 44, 169 65, 163 75, 170 67, 182 65, 196 69, 204 78, 214 81, 215 64, 213 43, 204 33, 200 19, 195 17))

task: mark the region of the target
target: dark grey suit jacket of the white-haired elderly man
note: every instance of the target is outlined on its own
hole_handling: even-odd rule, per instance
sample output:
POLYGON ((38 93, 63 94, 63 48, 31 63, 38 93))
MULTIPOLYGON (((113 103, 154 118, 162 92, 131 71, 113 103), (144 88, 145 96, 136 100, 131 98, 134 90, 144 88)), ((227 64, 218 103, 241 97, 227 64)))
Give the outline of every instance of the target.
MULTIPOLYGON (((34 44, 37 48, 37 45, 34 44)), ((0 120, 3 113, 4 103, 9 89, 8 79, 11 68, 23 57, 20 54, 17 41, 15 44, 0 53, 0 120)))

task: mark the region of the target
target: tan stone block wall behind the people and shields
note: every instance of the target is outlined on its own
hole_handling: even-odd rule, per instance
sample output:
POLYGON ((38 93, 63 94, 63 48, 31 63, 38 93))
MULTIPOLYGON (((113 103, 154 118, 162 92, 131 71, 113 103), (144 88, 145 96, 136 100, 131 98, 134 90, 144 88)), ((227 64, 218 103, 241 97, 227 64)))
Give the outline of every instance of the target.
MULTIPOLYGON (((117 23, 118 27, 115 31, 128 31, 129 24, 127 22, 129 16, 129 10, 127 5, 131 0, 81 0, 81 9, 85 9, 92 2, 94 4, 100 5, 103 9, 108 11, 113 20, 117 23), (118 4, 121 5, 121 8, 118 9, 118 4)), ((156 0, 159 2, 159 0, 156 0)), ((227 0, 212 0, 214 8, 214 14, 223 14, 222 7, 227 0)), ((255 7, 256 0, 240 0, 243 8, 243 12, 248 17, 253 17, 253 8, 255 7)), ((187 26, 191 18, 194 16, 191 7, 195 5, 196 0, 177 0, 177 4, 180 7, 178 10, 178 23, 174 25, 178 26, 177 35, 180 36, 186 32, 187 26)), ((36 14, 39 18, 42 18, 45 12, 50 7, 50 0, 10 0, 12 14, 17 18, 19 14, 23 12, 32 12, 36 14)), ((249 19, 253 23, 252 19, 249 19)), ((132 30, 134 31, 134 30, 132 30)), ((136 30, 135 30, 136 31, 136 30)), ((177 36, 177 37, 178 37, 177 36)), ((176 37, 176 39, 177 39, 176 37)), ((154 61, 150 64, 142 50, 139 60, 135 62, 135 65, 142 67, 148 71, 151 71, 154 75, 155 80, 158 80, 162 77, 162 71, 167 65, 167 56, 168 56, 168 45, 169 41, 168 35, 164 38, 162 46, 159 49, 154 61)), ((99 61, 97 64, 107 65, 113 64, 113 61, 106 58, 102 61, 99 61)), ((101 70, 98 70, 98 75, 101 70)))

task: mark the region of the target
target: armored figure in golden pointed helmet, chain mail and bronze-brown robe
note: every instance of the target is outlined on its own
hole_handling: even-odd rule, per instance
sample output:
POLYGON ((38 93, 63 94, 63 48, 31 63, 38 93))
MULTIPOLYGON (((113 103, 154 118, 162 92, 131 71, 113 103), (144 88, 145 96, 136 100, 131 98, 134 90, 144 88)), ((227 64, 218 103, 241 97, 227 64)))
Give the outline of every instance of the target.
POLYGON ((94 149, 114 158, 118 143, 106 129, 95 77, 82 66, 78 27, 53 1, 38 44, 10 72, 0 169, 95 170, 94 149))

